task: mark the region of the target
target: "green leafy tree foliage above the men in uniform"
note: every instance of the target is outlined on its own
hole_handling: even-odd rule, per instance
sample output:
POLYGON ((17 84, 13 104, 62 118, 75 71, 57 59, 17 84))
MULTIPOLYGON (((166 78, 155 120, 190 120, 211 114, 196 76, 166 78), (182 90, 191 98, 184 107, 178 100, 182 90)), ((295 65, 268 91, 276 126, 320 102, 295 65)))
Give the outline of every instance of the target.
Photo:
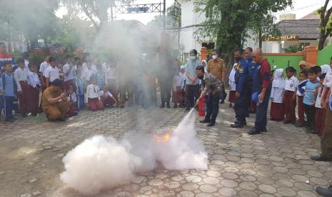
POLYGON ((281 11, 291 4, 291 0, 198 1, 196 11, 205 13, 206 21, 197 33, 216 38, 216 48, 221 49, 227 60, 233 49, 243 46, 248 32, 266 34, 272 26, 271 12, 281 11))

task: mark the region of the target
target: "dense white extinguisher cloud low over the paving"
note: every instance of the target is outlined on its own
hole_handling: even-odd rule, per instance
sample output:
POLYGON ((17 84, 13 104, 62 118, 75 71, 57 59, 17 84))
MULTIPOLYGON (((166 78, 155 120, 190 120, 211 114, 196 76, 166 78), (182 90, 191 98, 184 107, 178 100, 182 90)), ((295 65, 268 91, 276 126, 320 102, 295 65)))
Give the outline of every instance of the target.
POLYGON ((63 159, 61 180, 84 195, 130 183, 136 174, 153 171, 157 161, 166 169, 207 168, 208 156, 196 138, 193 110, 170 133, 168 141, 142 133, 93 136, 69 151, 63 159))

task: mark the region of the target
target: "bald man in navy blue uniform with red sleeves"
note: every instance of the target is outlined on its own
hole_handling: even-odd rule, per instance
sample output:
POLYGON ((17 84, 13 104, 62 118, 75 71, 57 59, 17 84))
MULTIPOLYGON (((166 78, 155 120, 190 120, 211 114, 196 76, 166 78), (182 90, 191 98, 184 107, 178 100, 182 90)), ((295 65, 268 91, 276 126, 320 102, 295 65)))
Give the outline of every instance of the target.
POLYGON ((253 81, 253 91, 258 96, 256 108, 255 127, 249 131, 249 135, 256 135, 261 132, 266 132, 268 111, 268 101, 271 94, 271 66, 266 59, 263 58, 261 49, 253 51, 253 61, 256 61, 259 66, 256 70, 253 81))

